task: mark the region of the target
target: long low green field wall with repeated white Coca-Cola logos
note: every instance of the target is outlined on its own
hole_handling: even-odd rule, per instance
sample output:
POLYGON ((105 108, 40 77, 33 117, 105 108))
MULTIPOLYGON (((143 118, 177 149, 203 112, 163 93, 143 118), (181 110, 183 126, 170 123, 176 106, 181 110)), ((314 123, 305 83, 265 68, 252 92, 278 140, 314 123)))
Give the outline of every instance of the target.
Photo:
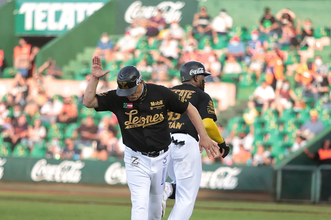
MULTIPOLYGON (((57 182, 92 185, 124 185, 123 161, 0 158, 0 180, 16 182, 57 182)), ((271 166, 203 165, 200 188, 271 192, 271 166)))

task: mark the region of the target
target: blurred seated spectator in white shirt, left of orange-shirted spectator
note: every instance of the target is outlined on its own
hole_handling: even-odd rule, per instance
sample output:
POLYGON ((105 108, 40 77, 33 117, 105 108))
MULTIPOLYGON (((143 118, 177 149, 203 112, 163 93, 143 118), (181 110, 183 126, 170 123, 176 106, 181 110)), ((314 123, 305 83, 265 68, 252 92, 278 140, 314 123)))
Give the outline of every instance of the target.
POLYGON ((63 109, 63 103, 60 100, 49 99, 40 109, 40 120, 42 123, 50 123, 56 120, 63 109))

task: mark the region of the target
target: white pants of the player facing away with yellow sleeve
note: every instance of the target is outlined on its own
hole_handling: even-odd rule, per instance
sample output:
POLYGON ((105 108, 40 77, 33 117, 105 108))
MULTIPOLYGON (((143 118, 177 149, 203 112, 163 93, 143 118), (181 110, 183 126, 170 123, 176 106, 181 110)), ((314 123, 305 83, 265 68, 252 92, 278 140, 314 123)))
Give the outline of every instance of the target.
POLYGON ((188 134, 171 134, 171 137, 185 141, 185 145, 170 144, 169 177, 176 183, 176 199, 168 220, 188 220, 201 182, 199 144, 188 134))

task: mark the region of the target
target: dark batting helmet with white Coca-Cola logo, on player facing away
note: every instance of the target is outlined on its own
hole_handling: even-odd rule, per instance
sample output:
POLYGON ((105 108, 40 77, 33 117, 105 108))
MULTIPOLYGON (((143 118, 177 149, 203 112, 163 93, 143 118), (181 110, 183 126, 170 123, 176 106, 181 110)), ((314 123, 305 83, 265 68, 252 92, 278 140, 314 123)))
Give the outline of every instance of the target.
POLYGON ((191 80, 195 75, 209 76, 211 74, 206 72, 205 66, 199 61, 190 61, 180 67, 180 80, 182 82, 191 80))

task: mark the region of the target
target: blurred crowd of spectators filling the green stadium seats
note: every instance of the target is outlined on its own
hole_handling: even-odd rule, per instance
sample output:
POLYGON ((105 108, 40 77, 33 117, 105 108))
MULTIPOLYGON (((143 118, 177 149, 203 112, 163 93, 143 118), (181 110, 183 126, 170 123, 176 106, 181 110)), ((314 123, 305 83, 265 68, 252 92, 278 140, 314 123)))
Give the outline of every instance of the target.
MULTIPOLYGON (((201 7, 192 25, 185 27, 178 22, 166 24, 158 11, 150 19, 134 19, 117 40, 103 33, 94 55, 102 58, 105 69, 114 72, 136 65, 146 81, 179 82, 180 66, 197 60, 212 73, 207 82, 256 86, 242 117, 219 125, 232 146, 231 155, 211 160, 203 155, 202 160, 268 165, 304 147, 330 125, 330 66, 321 56, 314 56, 330 44, 330 37, 321 29, 314 29, 309 19, 296 20, 289 9, 274 17, 266 8, 258 24, 251 27, 233 26, 225 9, 212 18, 201 7)), ((1 136, 10 143, 11 151, 23 143, 31 152, 36 143, 44 143, 48 157, 122 157, 116 117, 81 105, 90 75, 81 82, 79 96, 48 97, 43 75, 61 78, 63 73, 49 59, 34 69, 36 74, 29 74, 37 52, 23 38, 14 49, 15 86, 0 103, 1 136)), ((3 57, 0 50, 0 73, 3 57)), ((115 79, 108 74, 97 92, 108 91, 111 80, 115 79)))

